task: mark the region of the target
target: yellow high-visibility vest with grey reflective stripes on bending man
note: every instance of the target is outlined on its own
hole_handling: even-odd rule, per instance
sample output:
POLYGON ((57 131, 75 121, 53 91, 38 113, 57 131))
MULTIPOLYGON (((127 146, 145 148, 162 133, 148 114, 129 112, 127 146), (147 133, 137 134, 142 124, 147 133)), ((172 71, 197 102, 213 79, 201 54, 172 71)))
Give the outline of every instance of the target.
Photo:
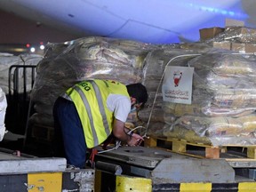
POLYGON ((126 86, 111 80, 86 80, 66 92, 73 100, 84 129, 87 148, 100 145, 112 132, 114 112, 107 108, 110 93, 130 98, 126 86))

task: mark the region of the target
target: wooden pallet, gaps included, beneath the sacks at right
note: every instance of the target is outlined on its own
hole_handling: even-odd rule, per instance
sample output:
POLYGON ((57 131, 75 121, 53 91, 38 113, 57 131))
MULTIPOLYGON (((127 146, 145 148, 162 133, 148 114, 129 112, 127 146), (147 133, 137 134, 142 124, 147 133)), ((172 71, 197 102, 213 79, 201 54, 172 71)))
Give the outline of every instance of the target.
POLYGON ((161 147, 159 143, 164 142, 164 148, 187 156, 195 156, 198 158, 237 158, 252 159, 256 161, 256 145, 241 146, 241 145, 225 145, 212 146, 203 143, 192 143, 187 140, 178 140, 170 138, 148 138, 144 141, 145 147, 161 147))

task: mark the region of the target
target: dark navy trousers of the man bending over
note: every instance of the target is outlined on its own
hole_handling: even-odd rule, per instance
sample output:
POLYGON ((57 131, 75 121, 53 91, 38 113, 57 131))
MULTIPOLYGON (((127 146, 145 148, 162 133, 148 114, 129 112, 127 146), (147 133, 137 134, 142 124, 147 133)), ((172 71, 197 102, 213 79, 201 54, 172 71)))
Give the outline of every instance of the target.
POLYGON ((59 97, 53 107, 55 156, 67 158, 69 165, 84 168, 86 143, 75 104, 59 97))

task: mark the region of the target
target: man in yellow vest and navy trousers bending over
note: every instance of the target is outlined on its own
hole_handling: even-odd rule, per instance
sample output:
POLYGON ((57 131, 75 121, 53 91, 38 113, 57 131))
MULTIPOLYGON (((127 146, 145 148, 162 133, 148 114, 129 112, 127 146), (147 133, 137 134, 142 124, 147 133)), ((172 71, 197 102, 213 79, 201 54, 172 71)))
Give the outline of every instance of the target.
POLYGON ((99 79, 75 84, 53 107, 57 156, 65 156, 69 165, 84 168, 87 148, 100 145, 111 133, 128 146, 138 146, 143 138, 129 132, 125 121, 131 109, 142 108, 147 100, 142 84, 99 79))

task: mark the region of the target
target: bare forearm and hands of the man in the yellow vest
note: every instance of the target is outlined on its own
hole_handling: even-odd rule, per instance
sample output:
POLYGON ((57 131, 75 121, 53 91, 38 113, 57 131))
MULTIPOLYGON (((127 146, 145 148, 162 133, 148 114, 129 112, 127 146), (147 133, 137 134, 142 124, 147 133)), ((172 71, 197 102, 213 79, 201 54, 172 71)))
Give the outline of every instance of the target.
POLYGON ((132 136, 125 132, 124 122, 115 118, 113 125, 113 134, 118 140, 126 142, 129 146, 138 146, 143 138, 136 133, 132 136))

